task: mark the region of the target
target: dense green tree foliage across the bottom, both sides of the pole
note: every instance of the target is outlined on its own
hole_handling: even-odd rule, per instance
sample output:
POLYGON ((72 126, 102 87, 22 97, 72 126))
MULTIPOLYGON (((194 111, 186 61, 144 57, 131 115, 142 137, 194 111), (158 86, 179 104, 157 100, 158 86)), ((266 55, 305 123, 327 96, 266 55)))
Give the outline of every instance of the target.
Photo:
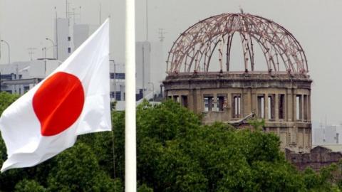
MULTIPOLYGON (((0 93, 0 113, 16 100, 0 93)), ((87 134, 32 168, 0 174, 0 191, 123 191, 125 113, 112 113, 113 132, 87 134), (114 158, 113 158, 114 157, 114 158)), ((259 129, 202 125, 175 102, 137 109, 138 191, 339 191, 342 164, 320 173, 296 171, 279 138, 259 129)), ((0 163, 6 148, 0 139, 0 163)))

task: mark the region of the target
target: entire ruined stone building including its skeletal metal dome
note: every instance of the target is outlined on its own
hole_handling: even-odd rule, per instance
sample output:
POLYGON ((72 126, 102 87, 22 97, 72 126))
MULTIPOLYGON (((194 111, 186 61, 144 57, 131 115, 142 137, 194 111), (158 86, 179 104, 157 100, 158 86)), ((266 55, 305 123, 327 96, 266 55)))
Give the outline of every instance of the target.
POLYGON ((279 135, 282 149, 309 152, 308 73, 303 48, 284 27, 251 14, 220 14, 180 34, 169 52, 163 83, 166 97, 202 113, 204 123, 255 115, 265 119, 267 132, 279 135), (231 55, 237 43, 242 62, 231 55))

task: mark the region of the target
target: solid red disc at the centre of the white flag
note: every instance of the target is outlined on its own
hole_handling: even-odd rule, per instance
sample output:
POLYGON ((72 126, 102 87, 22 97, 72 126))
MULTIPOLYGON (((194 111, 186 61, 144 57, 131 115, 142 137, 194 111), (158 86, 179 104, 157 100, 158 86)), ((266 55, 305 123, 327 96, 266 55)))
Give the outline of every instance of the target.
POLYGON ((41 134, 59 134, 71 127, 82 112, 82 83, 75 75, 55 73, 38 88, 32 103, 33 110, 41 122, 41 134))

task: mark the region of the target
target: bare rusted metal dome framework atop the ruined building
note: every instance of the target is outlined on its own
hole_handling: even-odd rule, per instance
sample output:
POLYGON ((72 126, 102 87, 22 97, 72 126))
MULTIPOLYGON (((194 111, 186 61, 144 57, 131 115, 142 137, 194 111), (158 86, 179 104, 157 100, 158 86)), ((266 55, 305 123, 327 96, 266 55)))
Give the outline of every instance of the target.
POLYGON ((215 52, 220 71, 229 72, 235 33, 239 33, 241 39, 245 73, 254 71, 256 43, 264 53, 269 73, 281 72, 279 65, 284 65, 287 73, 309 72, 304 50, 289 31, 269 19, 242 13, 212 16, 181 33, 169 52, 167 73, 209 72, 215 52))

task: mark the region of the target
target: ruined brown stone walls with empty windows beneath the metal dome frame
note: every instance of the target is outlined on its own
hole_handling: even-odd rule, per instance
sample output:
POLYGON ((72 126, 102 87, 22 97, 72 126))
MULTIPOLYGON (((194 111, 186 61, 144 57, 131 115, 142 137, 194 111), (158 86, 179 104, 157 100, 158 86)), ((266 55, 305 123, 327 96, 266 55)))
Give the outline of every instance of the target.
POLYGON ((169 75, 165 95, 196 113, 204 123, 230 122, 252 112, 278 134, 281 149, 311 149, 311 80, 306 75, 205 73, 169 75))

